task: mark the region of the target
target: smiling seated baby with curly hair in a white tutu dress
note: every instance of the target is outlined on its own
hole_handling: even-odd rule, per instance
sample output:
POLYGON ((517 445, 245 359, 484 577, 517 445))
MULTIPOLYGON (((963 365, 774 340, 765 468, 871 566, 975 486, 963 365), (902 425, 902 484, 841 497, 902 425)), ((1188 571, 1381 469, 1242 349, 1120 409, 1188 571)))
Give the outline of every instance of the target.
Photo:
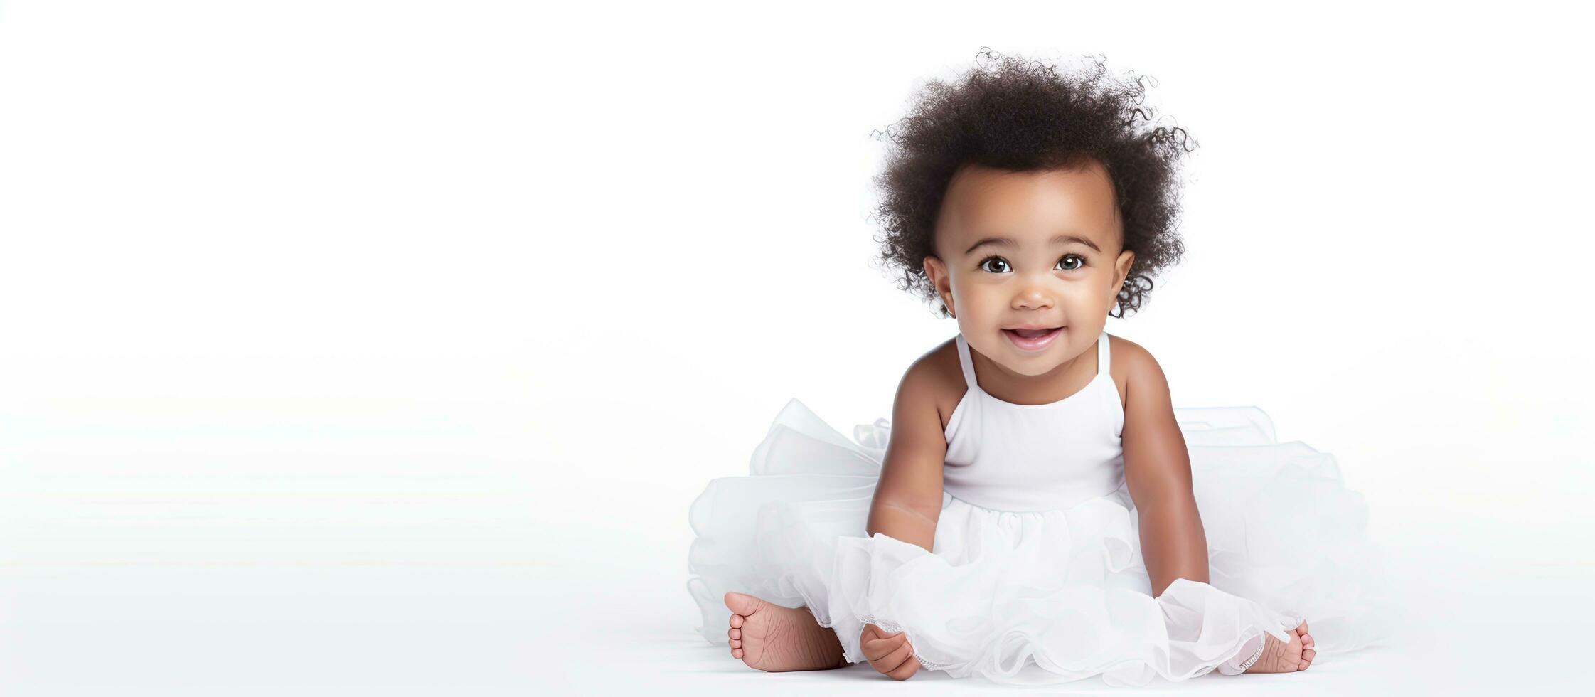
POLYGON ((766 671, 1024 684, 1300 671, 1317 612, 1337 649, 1369 643, 1365 507, 1333 459, 1255 408, 1176 410, 1105 332, 1182 254, 1185 131, 1101 64, 983 59, 925 88, 879 177, 880 258, 957 333, 857 442, 790 405, 753 475, 711 482, 705 624, 723 603, 721 641, 766 671))

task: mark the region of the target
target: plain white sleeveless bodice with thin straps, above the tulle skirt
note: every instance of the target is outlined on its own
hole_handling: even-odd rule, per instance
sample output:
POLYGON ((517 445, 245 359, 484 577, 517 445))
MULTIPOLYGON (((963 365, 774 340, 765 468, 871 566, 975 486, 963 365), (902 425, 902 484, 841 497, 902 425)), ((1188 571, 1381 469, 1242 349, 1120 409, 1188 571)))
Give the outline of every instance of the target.
POLYGON ((994 510, 1053 510, 1107 496, 1124 485, 1124 408, 1109 375, 1109 337, 1097 337, 1097 375, 1048 404, 1013 404, 986 394, 957 335, 968 386, 943 432, 943 490, 994 510))

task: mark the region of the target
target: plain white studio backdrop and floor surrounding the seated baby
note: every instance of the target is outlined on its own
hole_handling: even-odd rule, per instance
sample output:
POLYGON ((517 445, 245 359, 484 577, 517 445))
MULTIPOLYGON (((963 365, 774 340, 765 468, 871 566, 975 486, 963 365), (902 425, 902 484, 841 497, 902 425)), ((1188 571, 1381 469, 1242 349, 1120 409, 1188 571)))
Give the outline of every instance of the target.
POLYGON ((882 689, 705 644, 686 510, 955 332, 871 131, 981 46, 1156 78, 1188 254, 1109 332, 1410 592, 1176 689, 1585 683, 1587 18, 1191 5, 0 3, 0 692, 882 689))

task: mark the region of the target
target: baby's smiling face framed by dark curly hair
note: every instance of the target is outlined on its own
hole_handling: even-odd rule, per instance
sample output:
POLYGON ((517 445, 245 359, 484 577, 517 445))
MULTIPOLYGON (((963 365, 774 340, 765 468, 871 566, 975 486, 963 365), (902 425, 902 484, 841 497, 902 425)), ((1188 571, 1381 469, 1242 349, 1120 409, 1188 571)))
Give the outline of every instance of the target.
POLYGON ((941 300, 975 351, 1042 375, 1096 346, 1134 254, 1107 169, 1008 172, 970 164, 947 185, 936 255, 941 300), (1070 238, 1070 239, 1064 239, 1070 238), (1029 340, 1016 327, 1062 327, 1029 340))

